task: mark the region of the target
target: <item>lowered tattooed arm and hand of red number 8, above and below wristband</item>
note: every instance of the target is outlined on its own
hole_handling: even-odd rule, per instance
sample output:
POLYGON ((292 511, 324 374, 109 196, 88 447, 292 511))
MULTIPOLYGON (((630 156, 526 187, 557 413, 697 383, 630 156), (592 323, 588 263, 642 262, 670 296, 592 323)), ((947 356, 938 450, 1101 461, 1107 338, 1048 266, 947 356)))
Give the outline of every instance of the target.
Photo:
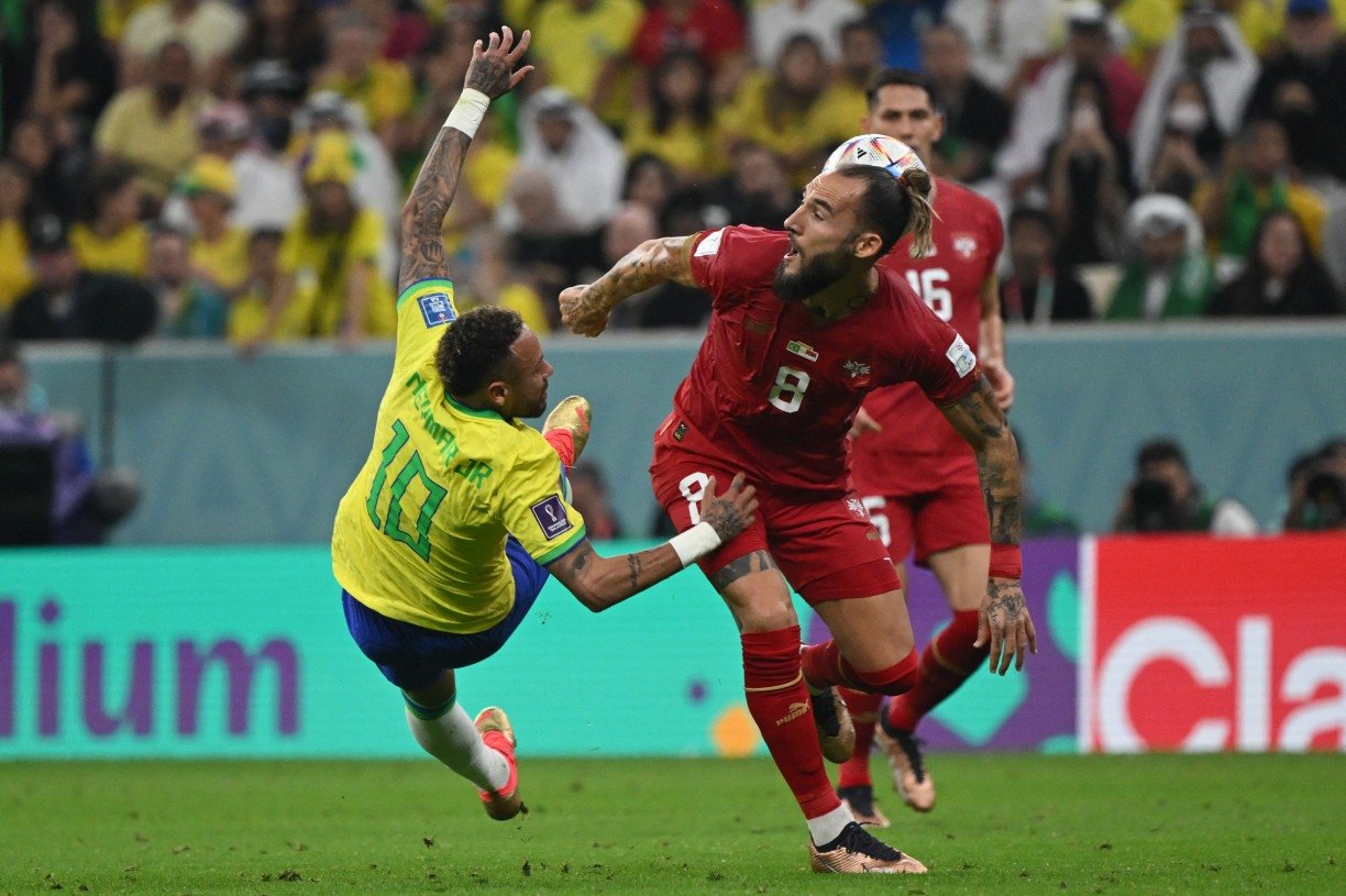
MULTIPOLYGON (((991 544, 1018 545, 1022 525, 1019 449, 991 385, 980 379, 972 391, 941 410, 976 452, 991 521, 991 544)), ((980 647, 988 639, 991 671, 1001 675, 1008 671, 1011 659, 1015 669, 1023 669, 1028 652, 1038 652, 1038 632, 1024 607, 1018 578, 991 578, 987 584, 976 643, 980 647)))

